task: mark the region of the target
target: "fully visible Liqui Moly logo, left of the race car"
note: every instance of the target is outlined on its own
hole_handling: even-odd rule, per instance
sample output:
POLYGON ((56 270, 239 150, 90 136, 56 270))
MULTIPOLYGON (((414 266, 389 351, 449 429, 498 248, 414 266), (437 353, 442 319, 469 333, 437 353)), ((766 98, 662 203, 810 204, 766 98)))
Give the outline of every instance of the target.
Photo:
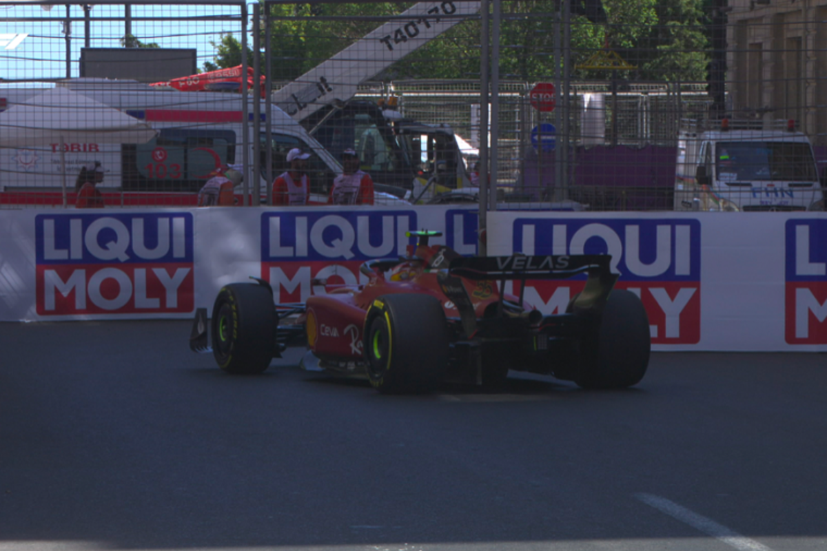
POLYGON ((193 310, 191 214, 48 214, 35 226, 39 315, 193 310))

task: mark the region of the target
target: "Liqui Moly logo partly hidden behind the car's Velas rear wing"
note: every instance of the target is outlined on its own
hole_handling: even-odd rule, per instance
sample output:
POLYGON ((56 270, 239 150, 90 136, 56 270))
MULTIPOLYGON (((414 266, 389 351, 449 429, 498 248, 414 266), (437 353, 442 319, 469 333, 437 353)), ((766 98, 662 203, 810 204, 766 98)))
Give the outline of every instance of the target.
MULTIPOLYGON (((700 340, 699 221, 519 219, 513 246, 528 255, 611 254, 616 287, 646 306, 653 344, 700 340)), ((562 313, 584 285, 582 279, 533 282, 524 298, 547 314, 562 313)))

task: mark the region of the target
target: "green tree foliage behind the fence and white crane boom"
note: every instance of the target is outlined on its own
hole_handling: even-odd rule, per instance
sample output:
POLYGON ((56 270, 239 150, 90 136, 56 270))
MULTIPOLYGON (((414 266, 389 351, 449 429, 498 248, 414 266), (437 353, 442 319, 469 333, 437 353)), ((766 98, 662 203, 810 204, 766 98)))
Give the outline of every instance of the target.
MULTIPOLYGON (((604 0, 608 21, 595 24, 572 11, 571 75, 576 79, 632 78, 690 81, 706 77, 709 55, 704 0, 604 0), (614 52, 629 71, 573 69, 595 52, 614 52)), ((413 4, 275 4, 270 6, 272 74, 289 81, 344 50, 380 26, 382 16, 413 4)), ((552 78, 555 59, 555 0, 502 2, 500 75, 524 81, 552 78)), ((262 42, 264 32, 262 32, 262 42)), ((377 75, 402 78, 479 78, 479 17, 470 17, 377 75)), ((226 35, 214 44, 214 70, 241 64, 241 45, 226 35)), ((252 51, 248 50, 252 64, 252 51)), ((262 67, 264 56, 262 55, 262 67)))

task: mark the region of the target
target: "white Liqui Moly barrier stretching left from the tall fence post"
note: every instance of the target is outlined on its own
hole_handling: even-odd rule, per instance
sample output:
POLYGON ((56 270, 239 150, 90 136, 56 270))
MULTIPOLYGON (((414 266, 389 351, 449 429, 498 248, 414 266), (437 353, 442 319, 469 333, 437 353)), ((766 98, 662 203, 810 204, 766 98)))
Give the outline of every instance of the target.
POLYGON ((251 276, 303 302, 313 278, 356 283, 406 254, 409 230, 476 254, 476 226, 473 206, 4 211, 0 321, 189 317, 251 276))

